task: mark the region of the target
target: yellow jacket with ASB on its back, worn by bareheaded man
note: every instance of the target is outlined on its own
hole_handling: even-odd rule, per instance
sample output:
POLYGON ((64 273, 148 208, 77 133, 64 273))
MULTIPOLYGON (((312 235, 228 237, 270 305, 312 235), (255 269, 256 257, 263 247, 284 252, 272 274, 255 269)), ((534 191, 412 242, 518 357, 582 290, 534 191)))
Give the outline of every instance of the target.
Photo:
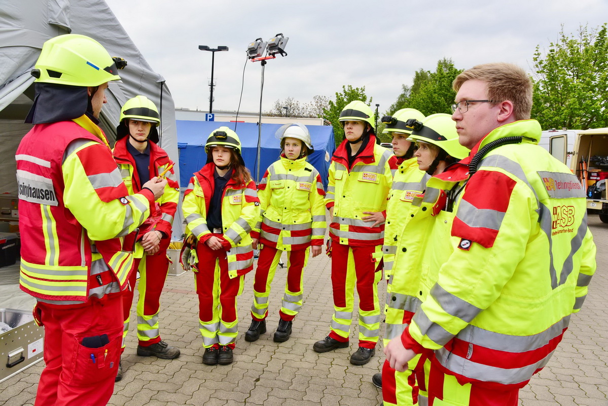
POLYGON ((523 141, 489 150, 472 176, 457 164, 427 183, 451 192, 421 211, 439 215, 455 199, 455 217, 447 244, 427 244, 421 290, 429 292, 401 336, 406 348, 435 350, 458 382, 488 387, 523 387, 548 362, 596 268, 584 188, 537 145, 538 122, 496 128, 461 162, 511 136, 523 141))

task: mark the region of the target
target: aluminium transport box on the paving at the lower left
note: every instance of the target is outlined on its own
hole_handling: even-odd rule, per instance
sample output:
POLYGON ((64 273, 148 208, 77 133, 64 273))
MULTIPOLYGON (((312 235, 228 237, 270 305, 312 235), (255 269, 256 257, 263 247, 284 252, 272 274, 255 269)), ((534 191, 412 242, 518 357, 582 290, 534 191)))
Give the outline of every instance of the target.
POLYGON ((44 327, 36 326, 32 312, 0 309, 0 382, 43 360, 44 327), (4 323, 4 324, 2 324, 4 323), (0 330, 2 331, 2 330, 0 330))

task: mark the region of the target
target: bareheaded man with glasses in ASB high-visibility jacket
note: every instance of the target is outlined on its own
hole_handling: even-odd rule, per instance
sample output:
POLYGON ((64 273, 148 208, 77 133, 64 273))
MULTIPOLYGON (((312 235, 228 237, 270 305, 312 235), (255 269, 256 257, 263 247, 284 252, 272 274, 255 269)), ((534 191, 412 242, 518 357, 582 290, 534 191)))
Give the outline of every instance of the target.
POLYGON ((452 119, 471 155, 429 180, 447 192, 433 209, 455 213, 451 240, 429 247, 449 256, 422 265, 432 289, 385 354, 396 371, 429 357, 424 403, 515 406, 581 309, 595 244, 581 184, 537 145, 525 71, 478 65, 454 90, 452 119))

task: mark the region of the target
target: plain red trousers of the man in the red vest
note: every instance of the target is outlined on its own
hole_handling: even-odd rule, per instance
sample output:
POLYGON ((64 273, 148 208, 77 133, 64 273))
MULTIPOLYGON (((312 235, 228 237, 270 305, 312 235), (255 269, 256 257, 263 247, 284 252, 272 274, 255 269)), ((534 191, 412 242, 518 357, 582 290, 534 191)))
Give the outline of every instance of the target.
POLYGON ((38 302, 34 312, 44 325, 46 364, 35 405, 107 404, 120 360, 122 293, 81 305, 38 302))

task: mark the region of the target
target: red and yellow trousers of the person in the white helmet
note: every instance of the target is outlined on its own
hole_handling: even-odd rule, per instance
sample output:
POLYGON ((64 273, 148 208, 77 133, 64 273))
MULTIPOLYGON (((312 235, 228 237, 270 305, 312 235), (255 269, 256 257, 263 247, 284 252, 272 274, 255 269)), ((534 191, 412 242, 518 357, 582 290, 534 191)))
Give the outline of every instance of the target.
MULTIPOLYGON (((286 251, 287 253, 287 281, 281 309, 278 314, 283 320, 291 321, 300 312, 303 299, 302 276, 308 263, 310 248, 303 250, 286 251)), ((270 285, 277 271, 278 262, 283 251, 269 245, 260 250, 258 267, 255 270, 254 303, 251 306, 251 317, 254 320, 264 320, 268 317, 268 296, 270 285)))

